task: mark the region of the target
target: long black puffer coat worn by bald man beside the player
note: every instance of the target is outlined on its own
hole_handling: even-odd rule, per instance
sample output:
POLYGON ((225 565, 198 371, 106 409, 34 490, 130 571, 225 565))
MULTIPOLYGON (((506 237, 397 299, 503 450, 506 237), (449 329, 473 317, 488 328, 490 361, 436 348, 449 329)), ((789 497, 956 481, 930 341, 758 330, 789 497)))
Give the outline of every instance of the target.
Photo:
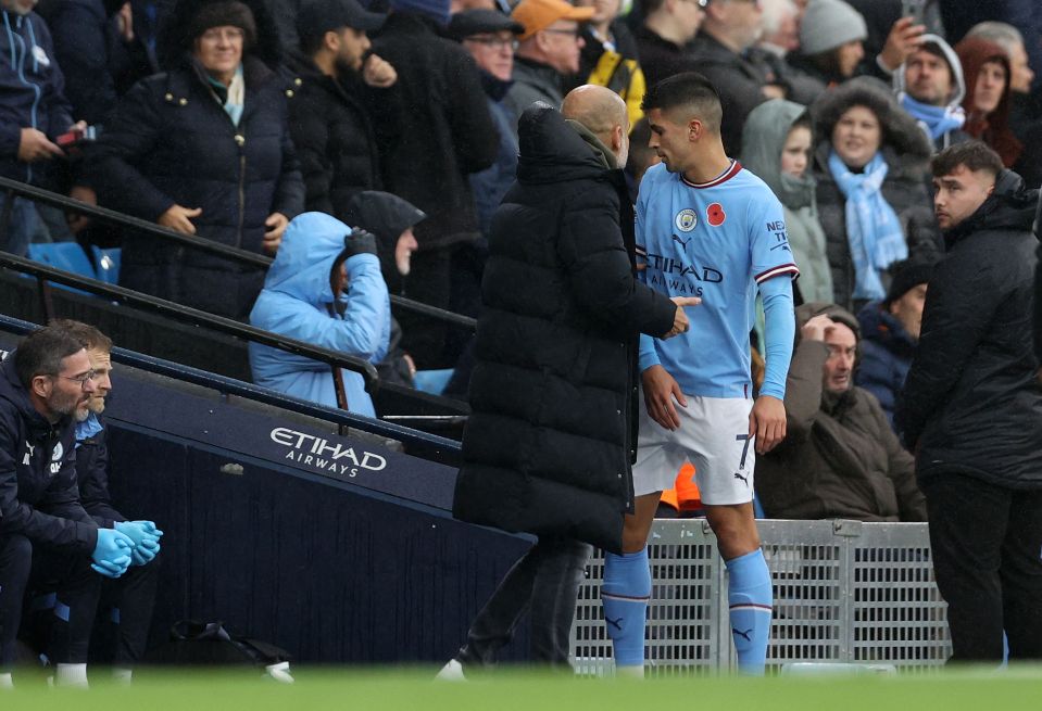
POLYGON ((619 551, 638 331, 663 335, 676 308, 635 277, 622 172, 547 104, 524 113, 519 139, 492 218, 453 513, 619 551))

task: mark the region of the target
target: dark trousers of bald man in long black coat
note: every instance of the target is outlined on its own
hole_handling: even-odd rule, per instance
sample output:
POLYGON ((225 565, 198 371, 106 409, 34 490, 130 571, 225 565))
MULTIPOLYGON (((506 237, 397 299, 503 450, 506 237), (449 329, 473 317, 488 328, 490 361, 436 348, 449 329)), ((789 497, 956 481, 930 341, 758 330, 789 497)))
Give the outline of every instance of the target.
POLYGON ((531 617, 531 660, 570 670, 568 645, 576 597, 592 547, 567 538, 540 538, 507 571, 470 624, 456 659, 467 666, 490 666, 495 652, 531 617))

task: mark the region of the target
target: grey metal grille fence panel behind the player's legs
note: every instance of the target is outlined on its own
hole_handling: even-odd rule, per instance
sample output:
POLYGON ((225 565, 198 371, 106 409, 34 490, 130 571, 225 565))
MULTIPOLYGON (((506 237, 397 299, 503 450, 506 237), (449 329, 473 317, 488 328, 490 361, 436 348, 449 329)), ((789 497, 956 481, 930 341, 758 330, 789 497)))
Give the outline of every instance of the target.
MULTIPOLYGON (((775 592, 768 668, 883 662, 922 669, 947 659, 945 605, 933 582, 926 524, 757 521, 757 526, 775 592)), ((656 521, 649 558, 648 674, 733 670, 727 571, 708 524, 656 521)), ((603 572, 598 553, 579 591, 573 631, 580 674, 613 669, 600 600, 603 572)))

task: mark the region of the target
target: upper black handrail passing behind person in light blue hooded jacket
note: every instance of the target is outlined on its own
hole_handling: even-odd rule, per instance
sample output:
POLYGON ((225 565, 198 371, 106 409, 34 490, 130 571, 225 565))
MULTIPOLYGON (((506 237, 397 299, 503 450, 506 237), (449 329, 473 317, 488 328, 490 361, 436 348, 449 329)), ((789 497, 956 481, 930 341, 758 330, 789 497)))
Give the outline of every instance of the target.
MULTIPOLYGON (((11 214, 13 210, 13 201, 11 198, 21 196, 34 202, 41 202, 46 205, 60 207, 68 212, 79 213, 80 215, 86 215, 111 225, 127 227, 136 232, 149 234, 150 237, 179 244, 192 250, 198 250, 200 252, 205 252, 237 264, 267 268, 273 262, 272 257, 263 254, 228 246, 227 244, 214 242, 213 240, 200 239, 190 234, 175 232, 174 230, 160 227, 155 223, 150 223, 139 217, 133 217, 114 210, 109 210, 108 207, 90 205, 66 195, 60 195, 57 192, 43 190, 42 188, 37 188, 24 182, 18 182, 17 180, 11 180, 10 178, 0 177, 0 191, 5 192, 8 195, 3 211, 0 213, 0 234, 7 234, 8 228, 10 227, 11 214)), ((415 314, 420 314, 430 318, 445 321, 447 323, 464 327, 472 331, 477 328, 477 321, 468 316, 454 314, 443 308, 437 308, 436 306, 423 304, 420 302, 398 296, 396 294, 391 294, 391 305, 413 312, 415 314)))

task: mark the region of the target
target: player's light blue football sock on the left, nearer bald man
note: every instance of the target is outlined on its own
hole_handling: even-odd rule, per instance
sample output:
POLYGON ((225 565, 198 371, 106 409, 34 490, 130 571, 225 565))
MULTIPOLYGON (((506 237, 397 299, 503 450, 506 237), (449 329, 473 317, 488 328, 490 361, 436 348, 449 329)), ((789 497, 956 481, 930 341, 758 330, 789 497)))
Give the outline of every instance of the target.
POLYGON ((622 556, 604 554, 601 605, 607 636, 615 649, 615 665, 644 665, 644 623, 651 597, 651 568, 648 548, 622 556))

